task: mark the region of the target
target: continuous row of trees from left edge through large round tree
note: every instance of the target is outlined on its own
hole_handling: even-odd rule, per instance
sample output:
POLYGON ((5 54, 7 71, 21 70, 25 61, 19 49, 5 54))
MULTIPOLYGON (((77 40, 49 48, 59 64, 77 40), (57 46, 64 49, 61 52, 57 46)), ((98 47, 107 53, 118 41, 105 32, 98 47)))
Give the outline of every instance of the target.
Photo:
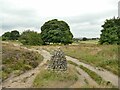
POLYGON ((24 45, 46 45, 50 43, 71 44, 73 35, 65 21, 49 20, 41 27, 41 33, 26 30, 19 33, 17 30, 6 32, 2 40, 19 40, 24 45))

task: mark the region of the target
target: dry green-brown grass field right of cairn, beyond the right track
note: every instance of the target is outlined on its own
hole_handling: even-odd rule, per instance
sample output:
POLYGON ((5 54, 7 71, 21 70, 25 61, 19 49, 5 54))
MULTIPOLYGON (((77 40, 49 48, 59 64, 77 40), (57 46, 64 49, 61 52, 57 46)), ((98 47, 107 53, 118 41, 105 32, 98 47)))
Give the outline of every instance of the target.
POLYGON ((81 62, 95 67, 103 67, 119 75, 117 45, 80 44, 61 48, 66 55, 77 58, 81 62))

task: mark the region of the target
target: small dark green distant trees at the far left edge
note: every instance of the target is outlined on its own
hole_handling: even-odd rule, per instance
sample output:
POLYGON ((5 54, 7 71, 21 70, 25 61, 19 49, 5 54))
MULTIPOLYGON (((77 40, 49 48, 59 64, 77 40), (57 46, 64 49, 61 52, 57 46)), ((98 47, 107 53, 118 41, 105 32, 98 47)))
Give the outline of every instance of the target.
POLYGON ((20 37, 19 31, 13 30, 11 32, 6 32, 2 35, 2 40, 18 40, 20 37))

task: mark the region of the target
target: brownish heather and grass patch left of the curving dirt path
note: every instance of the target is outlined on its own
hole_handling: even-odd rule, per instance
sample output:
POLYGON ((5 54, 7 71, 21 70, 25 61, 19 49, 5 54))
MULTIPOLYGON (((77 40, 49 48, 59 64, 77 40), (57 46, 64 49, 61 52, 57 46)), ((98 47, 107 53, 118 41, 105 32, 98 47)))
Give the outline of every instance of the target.
POLYGON ((2 47, 2 80, 35 68, 43 60, 43 57, 37 52, 28 51, 11 44, 3 43, 2 47))

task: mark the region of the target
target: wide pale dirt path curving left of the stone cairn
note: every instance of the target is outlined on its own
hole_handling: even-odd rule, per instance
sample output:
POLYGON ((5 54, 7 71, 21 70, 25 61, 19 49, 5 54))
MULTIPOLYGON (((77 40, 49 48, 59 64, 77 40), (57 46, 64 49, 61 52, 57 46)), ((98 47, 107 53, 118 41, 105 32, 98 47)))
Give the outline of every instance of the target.
MULTIPOLYGON (((27 48, 24 47, 24 49, 27 49, 27 48)), ((24 74, 21 74, 20 76, 13 77, 13 78, 6 80, 5 82, 3 82, 2 87, 6 87, 6 88, 27 87, 29 88, 32 86, 36 75, 40 72, 41 66, 43 66, 47 62, 47 60, 50 59, 50 54, 47 51, 42 50, 42 49, 41 50, 28 49, 28 50, 39 52, 44 57, 44 60, 35 69, 30 70, 24 74)))

